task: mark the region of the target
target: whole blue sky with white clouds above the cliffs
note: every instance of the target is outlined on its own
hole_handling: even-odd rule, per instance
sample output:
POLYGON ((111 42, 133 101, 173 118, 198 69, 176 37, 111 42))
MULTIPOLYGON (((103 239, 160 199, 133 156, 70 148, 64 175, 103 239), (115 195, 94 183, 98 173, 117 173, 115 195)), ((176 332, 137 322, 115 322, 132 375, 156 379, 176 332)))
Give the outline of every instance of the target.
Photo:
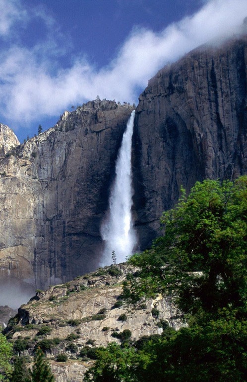
POLYGON ((164 65, 246 16, 246 0, 0 0, 0 122, 22 142, 97 95, 137 103, 164 65))

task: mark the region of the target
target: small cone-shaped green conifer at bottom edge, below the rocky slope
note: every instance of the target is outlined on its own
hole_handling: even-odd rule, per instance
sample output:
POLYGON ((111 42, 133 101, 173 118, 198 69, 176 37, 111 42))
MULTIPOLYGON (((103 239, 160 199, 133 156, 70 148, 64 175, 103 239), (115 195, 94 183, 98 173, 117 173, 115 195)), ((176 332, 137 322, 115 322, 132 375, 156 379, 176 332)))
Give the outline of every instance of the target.
POLYGON ((36 350, 34 356, 34 366, 31 372, 32 382, 54 382, 51 367, 48 364, 45 354, 40 348, 36 350))

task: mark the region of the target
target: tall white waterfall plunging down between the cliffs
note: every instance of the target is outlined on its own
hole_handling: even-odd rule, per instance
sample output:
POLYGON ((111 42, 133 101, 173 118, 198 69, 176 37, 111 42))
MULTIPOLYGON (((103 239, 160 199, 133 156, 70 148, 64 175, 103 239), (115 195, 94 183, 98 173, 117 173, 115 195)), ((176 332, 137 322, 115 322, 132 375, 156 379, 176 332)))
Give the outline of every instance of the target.
POLYGON ((113 251, 116 253, 116 262, 123 263, 133 253, 137 244, 131 214, 133 204, 131 142, 134 116, 135 110, 131 113, 123 135, 116 162, 116 177, 111 190, 107 218, 101 227, 101 236, 105 244, 101 266, 112 264, 113 251))

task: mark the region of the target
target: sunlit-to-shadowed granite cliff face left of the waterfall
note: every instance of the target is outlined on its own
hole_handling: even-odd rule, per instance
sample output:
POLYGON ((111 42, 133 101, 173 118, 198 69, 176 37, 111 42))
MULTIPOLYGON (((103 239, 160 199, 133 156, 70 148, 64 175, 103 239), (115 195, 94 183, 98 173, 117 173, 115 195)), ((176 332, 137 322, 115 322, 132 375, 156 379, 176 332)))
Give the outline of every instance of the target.
POLYGON ((100 224, 132 109, 91 101, 23 145, 7 153, 2 146, 3 285, 10 279, 43 288, 97 268, 100 224))

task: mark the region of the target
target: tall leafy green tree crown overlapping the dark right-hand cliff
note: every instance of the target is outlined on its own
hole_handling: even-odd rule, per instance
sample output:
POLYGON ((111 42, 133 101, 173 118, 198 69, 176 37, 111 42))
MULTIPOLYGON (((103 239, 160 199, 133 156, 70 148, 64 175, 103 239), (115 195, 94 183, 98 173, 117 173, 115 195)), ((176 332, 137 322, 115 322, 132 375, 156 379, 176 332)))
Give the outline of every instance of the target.
POLYGON ((128 297, 173 295, 185 313, 217 313, 247 300, 247 176, 236 182, 196 183, 177 206, 163 213, 164 236, 130 263, 139 279, 128 297))

